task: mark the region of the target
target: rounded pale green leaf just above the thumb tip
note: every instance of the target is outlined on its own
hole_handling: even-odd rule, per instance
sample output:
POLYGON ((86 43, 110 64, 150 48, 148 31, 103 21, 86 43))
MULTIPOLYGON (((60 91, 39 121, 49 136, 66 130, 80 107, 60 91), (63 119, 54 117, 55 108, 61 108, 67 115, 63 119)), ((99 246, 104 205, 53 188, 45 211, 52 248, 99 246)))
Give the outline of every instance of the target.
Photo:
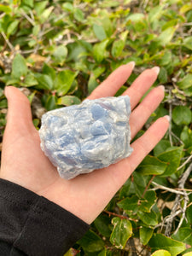
POLYGON ((20 79, 21 77, 25 77, 27 72, 26 60, 20 54, 16 55, 12 63, 12 78, 20 79))

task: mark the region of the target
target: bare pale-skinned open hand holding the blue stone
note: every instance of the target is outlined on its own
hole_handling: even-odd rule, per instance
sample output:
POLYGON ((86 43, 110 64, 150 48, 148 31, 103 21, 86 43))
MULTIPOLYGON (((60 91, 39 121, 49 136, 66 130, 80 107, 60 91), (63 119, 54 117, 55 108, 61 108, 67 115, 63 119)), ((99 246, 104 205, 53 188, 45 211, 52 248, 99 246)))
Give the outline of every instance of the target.
MULTIPOLYGON (((132 69, 133 63, 120 66, 92 92, 89 99, 113 96, 125 84, 132 69)), ((157 67, 145 70, 124 93, 131 99, 131 138, 142 129, 163 100, 164 90, 158 86, 139 103, 157 79, 157 72, 157 67)), ((142 137, 131 143, 134 151, 130 157, 107 168, 65 180, 40 148, 38 131, 32 124, 31 107, 26 96, 13 86, 7 87, 5 94, 9 111, 3 136, 0 177, 44 196, 87 224, 102 212, 143 158, 164 137, 169 126, 166 117, 158 119, 142 137)))

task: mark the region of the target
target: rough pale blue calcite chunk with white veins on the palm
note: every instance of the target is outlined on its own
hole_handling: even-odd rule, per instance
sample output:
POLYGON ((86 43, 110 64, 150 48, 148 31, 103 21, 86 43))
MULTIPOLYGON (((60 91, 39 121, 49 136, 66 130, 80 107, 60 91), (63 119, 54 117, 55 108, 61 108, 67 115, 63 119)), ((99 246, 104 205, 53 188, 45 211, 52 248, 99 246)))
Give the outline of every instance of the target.
POLYGON ((107 167, 132 152, 130 113, 129 96, 49 111, 39 130, 41 148, 66 179, 107 167))

